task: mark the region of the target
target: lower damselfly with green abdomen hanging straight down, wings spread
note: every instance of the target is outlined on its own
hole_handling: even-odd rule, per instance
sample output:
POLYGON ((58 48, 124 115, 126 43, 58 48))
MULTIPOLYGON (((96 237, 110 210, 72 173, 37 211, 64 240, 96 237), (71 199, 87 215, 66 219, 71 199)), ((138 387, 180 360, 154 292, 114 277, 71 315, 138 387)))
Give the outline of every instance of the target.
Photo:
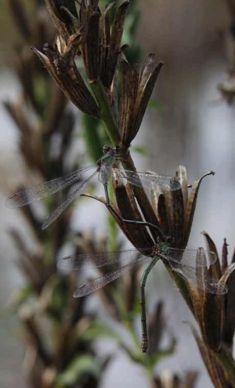
MULTIPOLYGON (((152 248, 139 249, 142 253, 147 251, 147 256, 140 257, 129 264, 109 272, 106 275, 95 279, 81 287, 75 292, 75 298, 84 296, 90 292, 96 291, 106 284, 119 278, 121 275, 131 270, 137 263, 151 257, 152 260, 144 270, 140 281, 140 313, 142 321, 142 351, 147 352, 148 349, 148 334, 146 324, 145 311, 145 285, 150 270, 159 259, 168 260, 173 270, 186 279, 193 286, 202 289, 203 291, 213 294, 225 294, 227 286, 224 282, 207 275, 197 267, 210 266, 217 260, 217 256, 208 250, 199 248, 194 249, 176 249, 169 245, 174 241, 172 237, 165 239, 165 242, 160 242, 152 248)), ((124 260, 132 259, 138 253, 137 249, 122 250, 120 252, 106 252, 86 255, 67 256, 61 259, 57 266, 64 270, 82 270, 90 268, 103 267, 108 264, 118 263, 124 260)))

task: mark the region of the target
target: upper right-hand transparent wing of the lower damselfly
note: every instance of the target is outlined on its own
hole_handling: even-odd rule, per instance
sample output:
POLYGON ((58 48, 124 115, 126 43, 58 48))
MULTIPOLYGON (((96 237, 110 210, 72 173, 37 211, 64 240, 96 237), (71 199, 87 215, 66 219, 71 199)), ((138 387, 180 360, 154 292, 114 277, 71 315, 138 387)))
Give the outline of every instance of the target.
POLYGON ((209 267, 216 262, 217 256, 209 250, 166 248, 162 253, 167 260, 191 267, 209 267))

